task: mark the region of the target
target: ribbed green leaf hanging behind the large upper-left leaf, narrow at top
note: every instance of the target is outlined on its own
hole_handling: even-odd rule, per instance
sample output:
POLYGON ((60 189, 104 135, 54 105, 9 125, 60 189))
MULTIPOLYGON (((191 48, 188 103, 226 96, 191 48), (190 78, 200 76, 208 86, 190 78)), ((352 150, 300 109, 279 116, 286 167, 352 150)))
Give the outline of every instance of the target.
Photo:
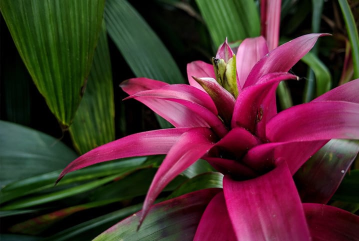
POLYGON ((86 91, 69 130, 73 145, 80 154, 114 139, 112 73, 104 22, 86 91))

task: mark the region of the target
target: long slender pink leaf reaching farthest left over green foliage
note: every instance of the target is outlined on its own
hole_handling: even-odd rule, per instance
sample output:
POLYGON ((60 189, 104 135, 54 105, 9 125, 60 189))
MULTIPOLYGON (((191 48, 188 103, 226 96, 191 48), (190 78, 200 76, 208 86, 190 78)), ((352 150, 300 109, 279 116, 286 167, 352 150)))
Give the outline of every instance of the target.
POLYGON ((188 128, 159 129, 140 132, 98 146, 69 163, 57 178, 99 162, 117 158, 165 154, 188 128))

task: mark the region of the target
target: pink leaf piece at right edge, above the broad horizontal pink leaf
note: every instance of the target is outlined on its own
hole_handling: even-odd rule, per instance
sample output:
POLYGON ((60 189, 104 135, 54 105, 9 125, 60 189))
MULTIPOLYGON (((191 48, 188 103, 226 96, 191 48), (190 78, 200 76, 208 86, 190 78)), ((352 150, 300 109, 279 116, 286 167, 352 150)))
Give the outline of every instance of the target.
POLYGON ((341 100, 359 103, 359 79, 351 80, 328 92, 320 95, 312 101, 341 100))

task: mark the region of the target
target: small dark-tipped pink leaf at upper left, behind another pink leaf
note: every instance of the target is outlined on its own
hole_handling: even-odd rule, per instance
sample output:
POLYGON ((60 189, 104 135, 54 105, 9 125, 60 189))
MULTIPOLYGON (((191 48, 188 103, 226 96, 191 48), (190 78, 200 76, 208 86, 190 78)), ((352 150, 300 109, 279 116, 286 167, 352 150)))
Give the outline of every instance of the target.
POLYGON ((163 87, 164 85, 169 85, 168 83, 150 79, 150 78, 130 78, 127 80, 124 80, 119 85, 123 91, 125 91, 128 94, 134 94, 139 91, 148 90, 148 89, 156 89, 163 87))

